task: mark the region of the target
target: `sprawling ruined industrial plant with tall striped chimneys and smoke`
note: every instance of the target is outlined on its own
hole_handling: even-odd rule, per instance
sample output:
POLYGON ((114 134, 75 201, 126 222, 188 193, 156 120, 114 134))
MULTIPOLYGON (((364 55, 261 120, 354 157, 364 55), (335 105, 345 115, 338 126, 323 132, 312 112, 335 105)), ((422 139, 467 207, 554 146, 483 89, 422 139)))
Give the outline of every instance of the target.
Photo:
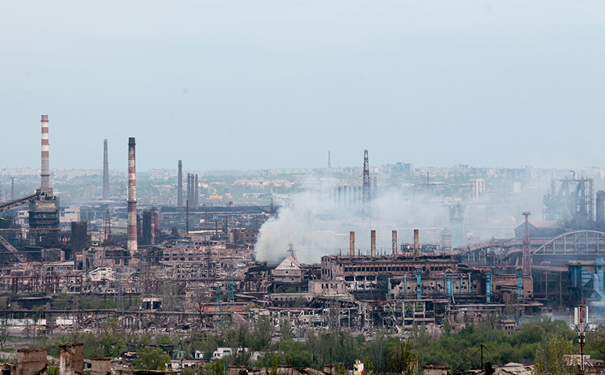
MULTIPOLYGON (((109 314, 52 308, 56 293, 112 300, 111 314, 123 329, 156 333, 168 327, 214 330, 235 319, 254 325, 265 316, 276 329, 287 319, 302 338, 312 329, 405 335, 420 325, 461 330, 489 314, 505 316, 511 306, 521 316, 564 319, 579 306, 605 312, 605 192, 594 192, 593 178, 553 178, 543 201, 535 203, 544 205, 541 213, 514 213, 523 220, 505 224, 509 238, 480 238, 470 228, 489 224, 467 216, 494 206, 485 198, 484 178, 456 185, 431 181, 445 172, 410 163, 371 168, 367 150, 362 167, 348 169, 332 167, 328 152, 328 167, 309 172, 324 176, 314 180, 314 192, 294 192, 317 194, 306 199, 321 201, 324 211, 297 215, 307 209, 305 198, 297 201, 273 187, 259 192, 270 178, 232 183, 240 199, 268 204, 234 203, 238 197, 227 190, 219 199, 201 171, 186 172, 183 181, 183 160, 175 163, 176 176, 168 177, 175 183, 164 188, 174 198, 141 205, 130 137, 124 142, 127 193, 110 189, 104 139, 98 199, 63 207, 50 183, 48 116, 41 123, 40 187, 18 198, 12 178, 10 199, 0 205, 0 290, 20 303, 24 321, 33 319, 34 306, 46 305, 39 325, 47 332, 94 328, 109 314), (386 173, 415 182, 394 190, 383 183, 386 173), (401 211, 402 197, 404 204, 433 204, 438 218, 415 221, 415 214, 427 215, 424 205, 413 206, 405 220, 390 219, 387 212, 401 211), (431 227, 430 220, 437 224, 431 227), (388 250, 377 246, 377 238, 390 243, 388 250), (167 285, 174 289, 167 292, 167 285)), ((489 172, 498 173, 526 171, 489 172)), ((286 185, 295 183, 280 186, 286 185)), ((2 310, 0 319, 14 313, 2 310)), ((505 332, 516 326, 504 318, 498 324, 505 332)))

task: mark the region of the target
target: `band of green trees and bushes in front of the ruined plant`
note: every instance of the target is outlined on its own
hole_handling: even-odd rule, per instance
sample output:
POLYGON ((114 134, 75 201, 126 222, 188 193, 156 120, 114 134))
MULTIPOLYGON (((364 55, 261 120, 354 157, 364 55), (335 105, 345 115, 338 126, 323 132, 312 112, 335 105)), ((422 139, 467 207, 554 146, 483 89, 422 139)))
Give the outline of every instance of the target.
MULTIPOLYGON (((447 365, 452 371, 477 369, 482 365, 480 358, 472 355, 483 344, 484 360, 494 365, 535 363, 537 375, 567 375, 560 359, 565 354, 579 353, 576 332, 565 321, 548 318, 528 323, 518 332, 507 335, 496 329, 495 317, 487 316, 455 334, 451 328, 443 329, 438 339, 432 338, 424 326, 414 326, 408 339, 402 339, 401 335, 388 331, 376 332, 371 337, 352 335, 343 330, 299 332, 287 320, 280 324, 279 339, 272 342, 274 332, 277 331, 266 316, 254 326, 244 323, 228 325, 221 330, 201 332, 194 329, 188 335, 159 337, 133 335, 123 330, 116 319, 108 319, 96 334, 76 331, 56 339, 39 335, 37 344, 47 346, 49 354, 54 356, 59 355, 59 344, 67 342, 83 342, 84 358, 95 355, 116 358, 125 351, 137 351, 139 360, 135 365, 150 369, 161 367, 171 357, 176 358, 176 349, 180 349, 185 358, 192 358, 196 351, 201 351, 204 359, 209 360, 218 347, 231 348, 233 355, 224 358, 220 365, 213 365, 217 368, 212 367, 212 371, 216 372, 225 365, 273 367, 274 363, 315 369, 330 363, 336 364, 337 368, 351 369, 358 359, 364 361, 367 372, 374 373, 412 375, 422 369, 422 365, 447 365), (298 341, 297 337, 301 336, 305 337, 304 341, 298 341), (153 345, 158 347, 148 347, 153 345), (247 350, 238 353, 238 348, 247 350), (261 357, 253 361, 252 353, 256 351, 261 357), (411 362, 418 363, 413 370, 407 365, 411 362)), ((597 332, 589 332, 585 349, 592 358, 605 359, 605 326, 599 326, 597 332)))

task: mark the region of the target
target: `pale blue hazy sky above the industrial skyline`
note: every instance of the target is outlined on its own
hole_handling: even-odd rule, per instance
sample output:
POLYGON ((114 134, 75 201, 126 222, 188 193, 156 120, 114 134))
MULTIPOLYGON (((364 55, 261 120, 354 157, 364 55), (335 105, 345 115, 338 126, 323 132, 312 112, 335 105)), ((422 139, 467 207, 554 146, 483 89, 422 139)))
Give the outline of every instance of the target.
POLYGON ((0 167, 605 167, 605 1, 0 1, 0 167))

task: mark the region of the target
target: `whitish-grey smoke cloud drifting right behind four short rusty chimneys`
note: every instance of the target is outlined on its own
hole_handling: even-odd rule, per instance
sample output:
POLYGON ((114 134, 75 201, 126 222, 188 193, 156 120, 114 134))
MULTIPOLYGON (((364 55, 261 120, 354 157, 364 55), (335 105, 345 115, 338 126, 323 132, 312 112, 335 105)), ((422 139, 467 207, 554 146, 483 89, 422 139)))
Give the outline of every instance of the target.
MULTIPOLYGON (((355 254, 368 255, 372 230, 376 230, 377 254, 392 254, 394 230, 397 230, 399 246, 413 244, 414 229, 420 229, 420 243, 436 245, 449 245, 452 231, 458 230, 464 231, 456 235, 465 241, 466 234, 473 241, 511 238, 514 228, 522 222, 519 207, 528 206, 528 201, 534 201, 537 207, 541 204, 539 197, 519 194, 514 199, 498 197, 488 204, 466 203, 465 216, 460 219, 466 222, 465 226, 452 228, 450 212, 452 208, 457 209, 459 203, 441 194, 377 185, 376 198, 372 199, 369 215, 365 217, 362 192, 357 189, 361 188, 361 178, 346 188, 342 181, 327 177, 308 178, 303 185, 307 187, 305 192, 275 197, 279 212, 261 227, 255 247, 257 260, 283 259, 289 243, 293 243, 303 263, 319 262, 326 254, 347 254, 351 231, 355 231, 355 254)), ((445 247, 444 250, 450 250, 445 247)))

